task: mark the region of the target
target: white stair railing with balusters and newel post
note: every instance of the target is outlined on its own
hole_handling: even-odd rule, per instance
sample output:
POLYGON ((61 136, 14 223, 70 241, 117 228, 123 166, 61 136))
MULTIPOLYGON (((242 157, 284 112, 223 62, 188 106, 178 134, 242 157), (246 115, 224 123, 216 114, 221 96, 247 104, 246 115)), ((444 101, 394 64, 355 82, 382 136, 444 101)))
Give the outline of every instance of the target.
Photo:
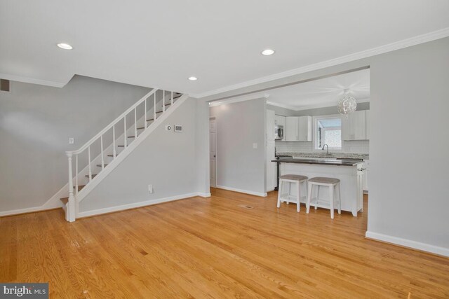
MULTIPOLYGON (((86 175, 88 177, 88 183, 91 182, 93 179, 95 179, 95 177, 93 177, 92 174, 92 162, 95 161, 91 159, 91 147, 93 146, 93 144, 95 144, 96 141, 98 141, 100 139, 100 155, 101 155, 101 170, 104 170, 105 167, 107 167, 107 164, 105 164, 105 153, 104 153, 104 146, 103 146, 103 139, 105 134, 107 134, 109 132, 109 130, 112 130, 112 160, 114 160, 116 158, 116 156, 118 155, 116 153, 116 125, 121 123, 123 121, 123 151, 126 151, 126 148, 128 147, 128 138, 133 138, 133 140, 137 139, 138 136, 140 136, 140 134, 142 134, 143 131, 147 130, 147 128, 151 125, 148 125, 149 121, 153 121, 156 120, 156 118, 159 118, 162 114, 166 111, 166 90, 162 90, 163 94, 162 94, 162 99, 156 99, 156 92, 158 91, 158 89, 153 89, 151 92, 148 92, 147 95, 143 96, 138 102, 136 102, 135 104, 133 104, 133 106, 130 106, 130 108, 128 108, 125 112, 123 112, 121 114, 121 116, 117 117, 114 121, 112 121, 112 123, 110 123, 109 125, 107 125, 103 130, 101 130, 100 132, 98 132, 98 134, 96 134, 91 140, 87 141, 86 144, 84 144, 83 146, 81 146, 81 148, 79 148, 76 151, 66 151, 66 155, 68 158, 68 162, 69 162, 69 200, 67 202, 66 205, 66 218, 67 221, 75 221, 76 218, 76 212, 75 212, 75 200, 76 200, 76 195, 78 194, 79 191, 79 155, 81 155, 82 153, 84 153, 86 150, 88 152, 88 175, 86 175), (151 101, 153 100, 153 103, 147 105, 147 101, 151 101), (162 102, 162 110, 161 111, 156 111, 156 109, 158 108, 156 106, 157 103, 161 103, 162 102), (147 107, 150 107, 150 110, 153 109, 153 119, 151 120, 147 120, 147 107), (142 118, 143 118, 143 127, 139 127, 138 128, 138 109, 144 109, 142 118), (129 127, 127 127, 127 117, 129 113, 133 112, 134 113, 134 122, 132 125, 130 125, 129 127), (158 117, 159 115, 159 117, 158 117), (133 127, 133 132, 134 132, 134 137, 128 136, 127 135, 127 131, 130 130, 130 127, 133 127), (138 134, 138 130, 143 130, 140 134, 138 134), (72 172, 72 158, 73 156, 75 156, 75 176, 73 176, 73 172, 72 172), (75 186, 74 186, 75 183, 75 186)), ((180 97, 180 95, 178 95, 177 97, 180 97)), ((177 99, 177 97, 173 97, 173 92, 170 92, 170 106, 173 105, 173 103, 175 102, 174 100, 177 99)), ((167 105, 169 105, 167 104, 167 105)), ((151 114, 150 114, 151 115, 151 114)), ((128 117, 129 120, 129 117, 128 117)), ((109 164, 109 163, 108 163, 109 164)), ((86 183, 87 185, 87 183, 86 183)))

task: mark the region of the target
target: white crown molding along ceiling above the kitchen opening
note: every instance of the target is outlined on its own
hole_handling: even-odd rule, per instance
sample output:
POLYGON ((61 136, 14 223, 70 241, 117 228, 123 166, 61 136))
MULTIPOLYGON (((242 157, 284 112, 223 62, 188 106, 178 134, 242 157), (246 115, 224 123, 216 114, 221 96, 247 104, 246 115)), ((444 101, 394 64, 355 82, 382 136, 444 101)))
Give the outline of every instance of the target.
POLYGON ((324 69, 326 67, 333 67, 335 65, 351 62, 351 61, 354 61, 354 60, 361 60, 361 59, 366 58, 366 57, 371 57, 371 56, 375 56, 375 55, 391 52, 391 51, 394 51, 394 50, 399 50, 399 49, 402 49, 402 48, 415 46, 415 45, 418 45, 420 43, 427 43, 429 41, 434 41, 436 39, 443 39, 443 38, 448 37, 448 36, 449 36, 449 27, 443 28, 443 29, 440 29, 440 30, 436 30, 434 32, 429 32, 427 34, 414 36, 414 37, 411 37, 410 39, 403 39, 401 41, 396 41, 394 43, 388 43, 387 45, 384 45, 384 46, 371 48, 369 50, 363 50, 361 52, 352 53, 352 54, 349 54, 349 55, 344 55, 342 57, 337 57, 337 58, 333 58, 331 60, 318 62, 316 64, 309 64, 309 65, 307 65, 305 67, 300 67, 300 68, 297 68, 297 69, 290 69, 289 71, 283 71, 283 72, 278 73, 278 74, 273 74, 273 75, 270 75, 270 76, 265 76, 265 77, 262 77, 262 78, 257 78, 257 79, 254 79, 254 80, 250 80, 250 81, 246 81, 246 82, 242 82, 242 83, 238 83, 238 84, 234 84, 234 85, 225 86, 224 88, 218 88, 216 90, 209 90, 209 91, 206 91, 206 92, 201 92, 199 94, 194 94, 194 95, 191 95, 191 96, 192 97, 196 97, 196 98, 209 97, 211 95, 217 95, 217 94, 220 94, 222 92, 229 92, 231 90, 237 90, 239 88, 246 88, 246 87, 251 86, 251 85, 256 85, 256 84, 260 84, 260 83, 266 83, 266 82, 269 82, 269 81, 274 81, 274 80, 281 79, 281 78, 286 78, 286 77, 289 77, 289 76, 295 76, 295 75, 298 75, 298 74, 304 74, 304 73, 307 73, 308 71, 316 71, 317 69, 324 69))

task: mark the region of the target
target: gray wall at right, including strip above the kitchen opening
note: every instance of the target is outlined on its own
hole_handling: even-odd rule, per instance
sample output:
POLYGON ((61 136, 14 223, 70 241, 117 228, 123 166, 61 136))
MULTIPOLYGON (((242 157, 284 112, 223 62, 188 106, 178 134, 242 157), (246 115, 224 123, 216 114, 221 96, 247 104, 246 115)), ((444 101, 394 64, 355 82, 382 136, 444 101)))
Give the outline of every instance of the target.
POLYGON ((449 38, 207 97, 370 66, 368 232, 449 256, 449 38))

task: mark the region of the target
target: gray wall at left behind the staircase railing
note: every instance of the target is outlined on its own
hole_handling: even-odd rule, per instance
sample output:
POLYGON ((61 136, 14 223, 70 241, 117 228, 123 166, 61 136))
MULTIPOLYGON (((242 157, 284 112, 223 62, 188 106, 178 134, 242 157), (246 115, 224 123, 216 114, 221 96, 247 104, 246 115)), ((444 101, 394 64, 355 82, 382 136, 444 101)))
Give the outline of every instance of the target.
POLYGON ((11 92, 0 92, 0 211, 50 199, 67 183, 65 151, 82 146, 147 92, 83 76, 64 88, 11 82, 11 92))

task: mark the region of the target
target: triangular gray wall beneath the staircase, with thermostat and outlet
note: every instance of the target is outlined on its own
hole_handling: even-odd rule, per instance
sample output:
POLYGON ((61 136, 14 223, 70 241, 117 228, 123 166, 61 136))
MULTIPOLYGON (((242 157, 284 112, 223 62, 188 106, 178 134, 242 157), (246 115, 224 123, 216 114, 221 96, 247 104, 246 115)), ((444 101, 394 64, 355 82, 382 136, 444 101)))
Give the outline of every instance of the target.
MULTIPOLYGON (((196 101, 187 99, 84 198, 79 211, 198 192, 196 111, 196 101), (183 125, 184 131, 166 131, 165 125, 183 125), (149 184, 154 188, 152 194, 149 184)), ((204 141, 198 146, 206 147, 204 141)))

